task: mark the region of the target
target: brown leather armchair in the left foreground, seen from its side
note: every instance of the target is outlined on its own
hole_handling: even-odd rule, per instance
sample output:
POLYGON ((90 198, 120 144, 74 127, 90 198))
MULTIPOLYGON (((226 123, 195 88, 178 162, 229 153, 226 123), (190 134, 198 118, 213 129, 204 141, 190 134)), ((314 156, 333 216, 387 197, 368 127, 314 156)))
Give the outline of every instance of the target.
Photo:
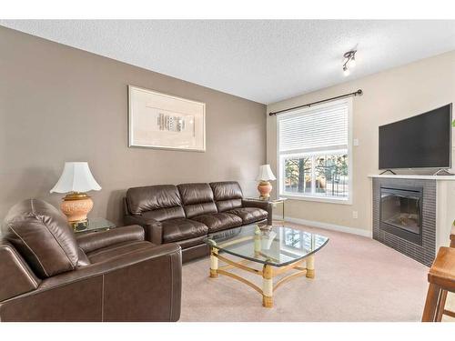
POLYGON ((0 242, 0 321, 177 321, 181 249, 141 226, 75 236, 44 201, 15 205, 0 242))

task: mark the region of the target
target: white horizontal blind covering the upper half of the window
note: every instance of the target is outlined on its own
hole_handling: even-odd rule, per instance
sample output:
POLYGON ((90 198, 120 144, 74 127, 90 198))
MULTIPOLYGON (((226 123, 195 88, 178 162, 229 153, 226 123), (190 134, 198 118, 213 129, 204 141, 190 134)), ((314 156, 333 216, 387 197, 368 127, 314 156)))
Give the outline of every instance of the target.
POLYGON ((348 103, 319 105, 278 117, 280 154, 340 149, 348 145, 348 103))

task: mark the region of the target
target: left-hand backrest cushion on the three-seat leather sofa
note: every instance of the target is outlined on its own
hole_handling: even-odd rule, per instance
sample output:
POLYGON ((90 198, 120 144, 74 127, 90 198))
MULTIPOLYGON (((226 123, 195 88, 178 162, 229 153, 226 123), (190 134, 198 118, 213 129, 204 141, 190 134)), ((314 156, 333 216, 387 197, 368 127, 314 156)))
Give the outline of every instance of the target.
POLYGON ((147 216, 157 221, 185 217, 177 186, 157 185, 129 188, 126 205, 131 215, 147 216))

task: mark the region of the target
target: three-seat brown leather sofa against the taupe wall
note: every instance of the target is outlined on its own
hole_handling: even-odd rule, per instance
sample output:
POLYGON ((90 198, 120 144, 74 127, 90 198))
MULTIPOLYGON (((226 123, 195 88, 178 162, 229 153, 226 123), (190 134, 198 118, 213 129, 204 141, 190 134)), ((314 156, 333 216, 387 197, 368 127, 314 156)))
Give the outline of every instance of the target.
POLYGON ((177 243, 186 262, 208 255, 207 234, 249 224, 271 225, 267 202, 243 199, 237 182, 129 188, 125 224, 143 226, 153 244, 177 243))

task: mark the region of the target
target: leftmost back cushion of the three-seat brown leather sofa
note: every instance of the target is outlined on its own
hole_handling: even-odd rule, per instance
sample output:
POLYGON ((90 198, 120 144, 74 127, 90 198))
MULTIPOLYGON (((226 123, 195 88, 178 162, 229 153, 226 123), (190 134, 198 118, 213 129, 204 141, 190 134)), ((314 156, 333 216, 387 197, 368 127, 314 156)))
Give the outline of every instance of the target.
MULTIPOLYGON (((174 185, 133 187, 126 191, 126 205, 130 214, 141 215, 147 211, 181 206, 182 201, 174 185)), ((181 210, 183 217, 183 209, 181 210)))

